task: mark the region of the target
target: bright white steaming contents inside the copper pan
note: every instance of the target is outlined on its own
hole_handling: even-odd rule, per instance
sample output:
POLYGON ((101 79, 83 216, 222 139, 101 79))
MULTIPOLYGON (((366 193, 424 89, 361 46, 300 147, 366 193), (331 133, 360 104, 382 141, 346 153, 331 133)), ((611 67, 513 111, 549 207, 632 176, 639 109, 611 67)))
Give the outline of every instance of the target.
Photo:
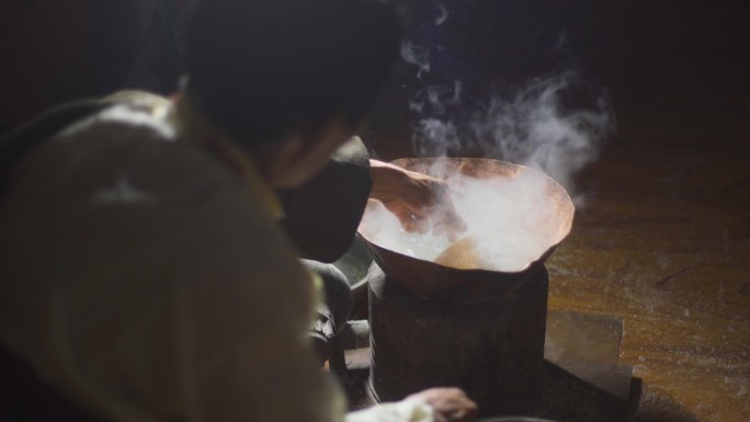
MULTIPOLYGON (((471 264, 493 271, 523 270, 549 244, 553 209, 546 195, 548 181, 524 172, 515 178, 447 179, 453 203, 467 224, 461 239, 470 237, 471 264)), ((453 242, 446 236, 407 232, 398 218, 382 204, 371 204, 363 218, 365 236, 386 249, 425 261, 434 261, 453 242)), ((454 248, 456 249, 456 248, 454 248)), ((442 258, 442 256, 441 256, 442 258)))

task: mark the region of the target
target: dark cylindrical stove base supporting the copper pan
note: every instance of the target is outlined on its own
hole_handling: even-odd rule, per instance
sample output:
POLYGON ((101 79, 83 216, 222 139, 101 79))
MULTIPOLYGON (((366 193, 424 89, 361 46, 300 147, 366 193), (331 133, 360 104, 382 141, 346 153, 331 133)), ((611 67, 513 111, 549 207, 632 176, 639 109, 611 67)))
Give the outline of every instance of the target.
MULTIPOLYGON (((377 269, 374 269, 377 270, 377 269)), ((529 410, 544 376, 547 272, 478 304, 412 295, 371 270, 371 383, 399 400, 430 387, 463 388, 482 414, 529 410)))

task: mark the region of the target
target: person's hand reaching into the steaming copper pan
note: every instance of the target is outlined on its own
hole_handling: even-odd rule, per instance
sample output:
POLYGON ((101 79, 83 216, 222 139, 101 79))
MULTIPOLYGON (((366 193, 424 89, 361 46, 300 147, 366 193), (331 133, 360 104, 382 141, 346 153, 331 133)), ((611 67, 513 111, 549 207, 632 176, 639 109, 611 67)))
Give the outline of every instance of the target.
POLYGON ((424 232, 432 223, 435 235, 447 235, 451 239, 466 230, 445 181, 376 160, 371 160, 371 169, 370 196, 394 213, 405 230, 424 232))

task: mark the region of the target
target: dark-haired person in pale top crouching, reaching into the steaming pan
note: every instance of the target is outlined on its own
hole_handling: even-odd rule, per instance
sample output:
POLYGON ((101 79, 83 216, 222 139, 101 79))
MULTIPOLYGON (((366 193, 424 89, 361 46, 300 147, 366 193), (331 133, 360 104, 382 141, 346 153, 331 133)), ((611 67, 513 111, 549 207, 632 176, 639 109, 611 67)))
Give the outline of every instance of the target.
MULTIPOLYGON (((320 283, 277 224, 274 190, 304 184, 354 133, 398 39, 393 11, 364 0, 203 2, 180 93, 115 94, 14 166, 3 345, 96 420, 344 419, 307 337, 320 283)), ((346 419, 474 413, 443 388, 346 419)))

